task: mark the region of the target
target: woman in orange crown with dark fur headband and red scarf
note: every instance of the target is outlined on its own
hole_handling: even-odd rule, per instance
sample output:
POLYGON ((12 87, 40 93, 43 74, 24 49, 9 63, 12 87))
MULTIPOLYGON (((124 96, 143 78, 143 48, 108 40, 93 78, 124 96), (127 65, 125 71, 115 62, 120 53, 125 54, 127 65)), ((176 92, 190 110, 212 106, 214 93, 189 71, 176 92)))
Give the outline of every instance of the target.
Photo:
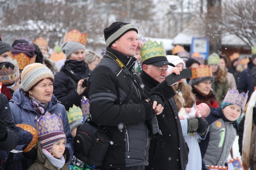
POLYGON ((214 82, 211 68, 200 64, 197 68, 191 69, 192 77, 190 78, 189 85, 192 86, 192 92, 195 94, 196 105, 206 103, 210 107, 218 107, 216 97, 211 89, 214 82))

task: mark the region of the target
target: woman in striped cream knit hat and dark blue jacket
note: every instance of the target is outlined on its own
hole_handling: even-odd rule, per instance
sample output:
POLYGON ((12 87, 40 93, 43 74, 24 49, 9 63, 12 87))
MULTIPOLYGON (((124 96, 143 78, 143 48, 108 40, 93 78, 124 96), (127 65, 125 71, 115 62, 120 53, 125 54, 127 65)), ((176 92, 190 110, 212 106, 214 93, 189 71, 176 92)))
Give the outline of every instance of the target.
MULTIPOLYGON (((67 137, 65 152, 66 162, 73 158, 72 136, 65 107, 58 103, 53 95, 54 76, 52 71, 45 65, 34 63, 26 66, 21 75, 22 87, 13 94, 10 101, 12 117, 15 124, 27 124, 35 128, 35 116, 44 115, 46 112, 60 114, 63 121, 63 128, 67 137)), ((19 134, 17 151, 24 151, 32 140, 32 135, 18 128, 19 134)), ((2 166, 5 166, 8 153, 0 151, 3 158, 2 166)), ((16 153, 11 161, 11 169, 27 169, 37 158, 37 148, 29 152, 16 153)))

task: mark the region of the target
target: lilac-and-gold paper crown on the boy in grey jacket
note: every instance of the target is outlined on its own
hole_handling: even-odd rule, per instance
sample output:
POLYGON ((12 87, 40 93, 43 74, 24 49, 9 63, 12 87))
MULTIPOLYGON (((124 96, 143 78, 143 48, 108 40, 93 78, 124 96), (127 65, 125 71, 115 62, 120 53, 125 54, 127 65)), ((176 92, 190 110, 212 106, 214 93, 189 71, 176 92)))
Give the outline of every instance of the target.
POLYGON ((232 103, 240 106, 242 109, 244 109, 244 106, 246 104, 248 98, 248 92, 245 94, 242 92, 239 94, 238 90, 235 88, 232 88, 231 90, 228 90, 223 103, 232 103))

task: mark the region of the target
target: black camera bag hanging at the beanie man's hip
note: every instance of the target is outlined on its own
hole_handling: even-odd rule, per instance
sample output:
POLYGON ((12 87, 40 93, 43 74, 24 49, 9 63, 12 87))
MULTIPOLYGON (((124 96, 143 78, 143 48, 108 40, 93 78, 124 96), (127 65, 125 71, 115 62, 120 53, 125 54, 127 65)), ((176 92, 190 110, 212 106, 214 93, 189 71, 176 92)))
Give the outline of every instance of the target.
POLYGON ((101 166, 110 145, 107 128, 92 120, 79 125, 73 139, 74 156, 89 165, 101 166))

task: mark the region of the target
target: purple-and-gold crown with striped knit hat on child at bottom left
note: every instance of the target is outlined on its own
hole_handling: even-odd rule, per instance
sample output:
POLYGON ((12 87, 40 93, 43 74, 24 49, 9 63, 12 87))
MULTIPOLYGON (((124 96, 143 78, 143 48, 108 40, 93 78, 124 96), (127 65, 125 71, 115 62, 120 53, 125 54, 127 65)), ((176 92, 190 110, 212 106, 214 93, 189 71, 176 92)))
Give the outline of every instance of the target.
POLYGON ((43 116, 35 117, 34 122, 35 129, 38 132, 38 141, 42 148, 49 153, 52 152, 52 146, 55 142, 60 139, 66 139, 60 114, 58 117, 55 114, 51 115, 46 112, 43 116))

